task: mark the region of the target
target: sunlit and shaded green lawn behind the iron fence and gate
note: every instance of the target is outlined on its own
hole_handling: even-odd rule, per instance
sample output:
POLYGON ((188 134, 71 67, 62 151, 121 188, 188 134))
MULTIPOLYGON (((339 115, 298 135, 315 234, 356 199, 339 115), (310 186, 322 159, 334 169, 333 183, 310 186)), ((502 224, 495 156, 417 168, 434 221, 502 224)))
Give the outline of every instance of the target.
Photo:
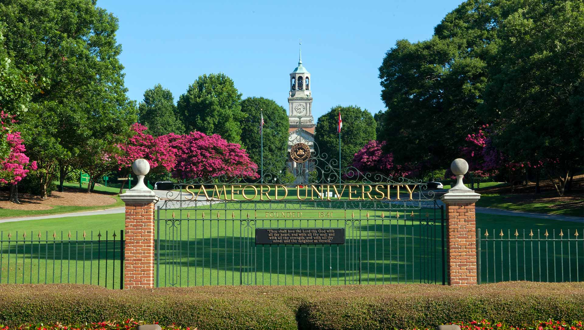
MULTIPOLYGON (((440 226, 420 222, 420 217, 422 220, 425 219, 425 213, 430 213, 430 218, 432 218, 433 211, 416 211, 413 220, 409 214, 405 222, 403 213, 398 220, 395 212, 391 213, 391 219, 388 219, 388 213, 384 213, 385 217, 381 219, 379 212, 370 212, 369 219, 361 219, 360 223, 353 223, 351 220, 347 223, 345 220, 314 220, 312 216, 303 216, 300 219, 258 219, 255 222, 253 220, 248 222, 246 212, 239 213, 231 209, 218 211, 223 213, 220 214, 221 219, 216 219, 214 211, 215 219, 211 220, 209 210, 192 209, 186 212, 189 213, 190 219, 196 217, 199 220, 179 222, 172 219, 172 211, 161 215, 162 220, 159 221, 161 226, 159 284, 161 286, 172 283, 182 286, 239 285, 239 283, 336 285, 337 281, 339 284, 359 283, 359 278, 363 284, 396 283, 398 280, 400 283, 420 282, 420 280, 442 282, 440 226), (203 212, 206 213, 204 220, 201 219, 203 212), (234 220, 230 219, 232 214, 234 214, 234 220), (225 215, 228 219, 225 219, 225 215), (239 220, 239 217, 243 219, 239 220), (256 247, 253 238, 256 227, 342 227, 346 229, 346 243, 308 247, 306 245, 258 245, 256 247)), ((318 209, 315 209, 315 212, 318 212, 318 209)), ((179 216, 176 211, 175 219, 179 216)), ((186 215, 183 214, 182 217, 186 215)), ((13 282, 16 279, 19 283, 23 280, 25 283, 31 281, 44 283, 47 279, 49 283, 55 280, 55 282, 65 283, 91 281, 95 284, 99 279, 100 285, 103 285, 107 276, 109 287, 119 287, 119 243, 112 241, 105 243, 104 240, 106 231, 109 240, 112 240, 112 233, 116 233, 118 235, 116 239, 119 240, 119 231, 123 229, 123 226, 123 213, 0 223, 2 235, 0 281, 5 283, 9 279, 13 282), (18 248, 15 245, 17 230, 18 248), (71 230, 71 243, 68 238, 69 230, 71 230), (86 231, 85 242, 84 230, 86 231), (27 232, 26 245, 22 244, 23 231, 27 232), (39 231, 41 232, 40 243, 39 231), (12 234, 10 247, 8 247, 8 232, 12 234), (51 243, 53 233, 57 236, 55 238, 57 243, 51 243), (97 242, 98 233, 102 234, 100 243, 97 242), (93 240, 91 240, 92 235, 93 240), (47 236, 48 241, 46 241, 47 236), (62 243, 61 237, 64 241, 62 243), (103 259, 106 246, 107 263, 103 259), (85 262, 83 262, 84 254, 85 262), (98 254, 102 257, 99 265, 95 261, 98 254), (10 265, 8 265, 9 255, 10 265), (25 258, 24 265, 22 255, 28 257, 25 258), (33 262, 30 262, 31 256, 33 262)), ((477 229, 481 229, 483 239, 485 230, 489 231, 489 239, 493 237, 493 233, 496 236, 494 242, 496 250, 492 250, 493 241, 488 241, 488 243, 482 241, 481 244, 483 282, 487 279, 487 269, 489 269, 489 282, 508 280, 510 270, 512 280, 538 280, 539 275, 542 274, 543 280, 553 281, 552 271, 554 270, 558 276, 555 280, 560 280, 562 270, 565 280, 568 280, 569 275, 572 275, 573 280, 577 275, 580 279, 584 277, 582 236, 579 236, 579 242, 582 243, 578 245, 573 241, 571 243, 551 241, 552 237, 549 237, 548 242, 530 241, 529 236, 531 230, 533 230, 534 239, 537 235, 544 238, 545 230, 548 230, 550 234, 555 230, 556 238, 560 238, 558 235, 561 229, 565 234, 562 239, 566 240, 568 230, 571 236, 575 230, 579 233, 584 232, 581 223, 477 213, 477 229), (517 237, 519 241, 514 241, 516 229, 519 232, 519 237, 517 237), (502 242, 499 241, 501 230, 504 234, 502 242), (526 230, 526 241, 523 241, 523 230, 526 230), (510 241, 507 241, 508 237, 511 238, 510 241), (503 245, 500 245, 501 243, 503 245), (557 265, 550 268, 554 260, 552 258, 554 247, 557 250, 555 251, 557 265), (519 251, 518 257, 515 257, 516 248, 519 251), (523 261, 523 248, 527 251, 526 261, 523 261), (535 250, 530 250, 533 248, 535 250), (568 249, 571 250, 568 251, 568 249), (576 259, 576 249, 578 249, 579 259, 576 259), (496 254, 495 257, 492 257, 493 251, 496 254), (543 257, 545 252, 551 255, 547 258, 543 257), (489 260, 486 260, 487 255, 489 260), (538 264, 539 257, 543 261, 543 268, 538 268, 541 266, 538 264), (536 260, 533 267, 530 264, 531 260, 536 260), (578 267, 575 265, 576 260, 579 262, 578 267), (511 263, 509 264, 508 261, 511 263), (545 268, 545 261, 548 262, 547 268, 545 268), (516 272, 517 269, 519 271, 516 272), (493 272, 497 276, 494 279, 493 272), (545 275, 548 278, 545 278, 545 275)))

